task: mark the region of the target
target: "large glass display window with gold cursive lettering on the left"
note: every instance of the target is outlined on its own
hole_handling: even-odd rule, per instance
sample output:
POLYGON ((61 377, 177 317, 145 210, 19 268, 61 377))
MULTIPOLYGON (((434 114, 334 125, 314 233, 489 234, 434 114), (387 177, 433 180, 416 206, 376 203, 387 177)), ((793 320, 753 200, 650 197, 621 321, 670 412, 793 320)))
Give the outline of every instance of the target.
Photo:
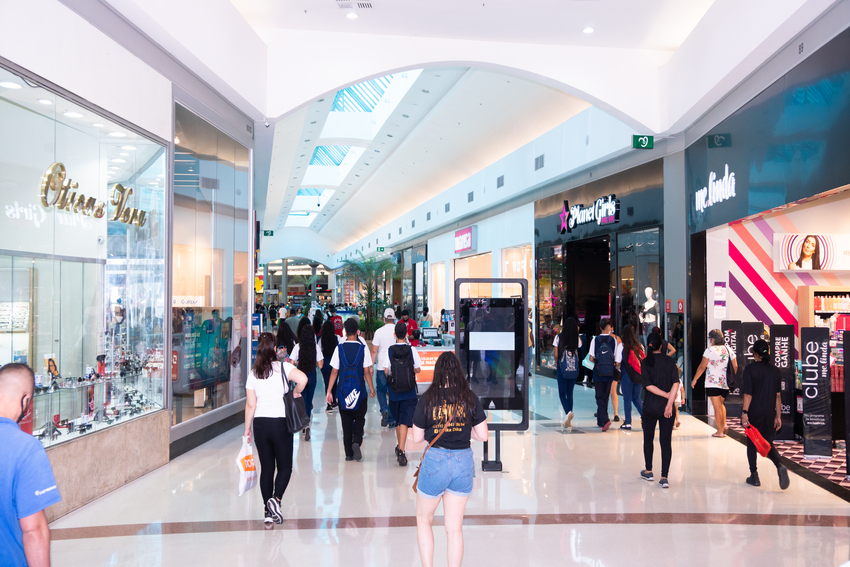
POLYGON ((0 69, 0 365, 45 445, 163 407, 165 147, 0 69))

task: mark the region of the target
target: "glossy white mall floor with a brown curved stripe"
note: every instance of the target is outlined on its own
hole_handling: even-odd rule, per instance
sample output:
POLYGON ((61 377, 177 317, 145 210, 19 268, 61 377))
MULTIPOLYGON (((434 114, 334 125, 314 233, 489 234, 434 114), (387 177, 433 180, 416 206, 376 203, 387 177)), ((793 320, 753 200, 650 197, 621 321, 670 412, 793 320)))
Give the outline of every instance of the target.
MULTIPOLYGON (((762 487, 746 485, 743 445, 712 438, 704 423, 683 416, 665 491, 638 477, 639 420, 632 432, 602 433, 592 390, 577 387, 576 428, 567 434, 558 425, 554 380, 533 377, 531 386, 541 419, 528 432, 504 434, 504 472, 481 473, 479 465, 465 564, 834 566, 850 559, 847 502, 794 474, 781 491, 764 459, 762 487)), ((377 403, 369 403, 361 463, 344 461, 338 416, 314 415, 312 442, 296 441, 283 526, 262 529, 258 489, 237 496, 237 428, 52 524, 54 564, 418 565, 410 486, 421 447, 399 467, 395 432, 380 428, 377 403)), ((482 446, 473 446, 480 462, 482 446)), ((657 477, 657 446, 655 458, 657 477)), ((435 564, 444 565, 445 535, 440 527, 435 534, 435 564)))

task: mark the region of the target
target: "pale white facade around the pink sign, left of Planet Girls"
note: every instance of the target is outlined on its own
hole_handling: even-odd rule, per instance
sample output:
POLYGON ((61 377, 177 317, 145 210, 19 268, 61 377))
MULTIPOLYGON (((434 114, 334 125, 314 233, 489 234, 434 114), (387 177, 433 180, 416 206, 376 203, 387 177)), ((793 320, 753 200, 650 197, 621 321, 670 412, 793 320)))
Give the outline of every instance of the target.
MULTIPOLYGON (((492 216, 474 223, 478 227, 478 246, 475 252, 465 254, 455 253, 455 231, 466 228, 467 224, 459 224, 448 231, 428 240, 428 308, 439 315, 439 309, 433 304, 433 289, 435 285, 443 285, 445 289, 446 309, 454 309, 454 260, 476 254, 491 253, 491 273, 489 277, 501 277, 502 249, 514 246, 530 245, 534 254, 534 203, 528 203, 505 213, 492 216), (445 262, 445 281, 440 284, 432 278, 431 265, 445 262)), ((534 305, 534 280, 529 281, 529 305, 534 305)))

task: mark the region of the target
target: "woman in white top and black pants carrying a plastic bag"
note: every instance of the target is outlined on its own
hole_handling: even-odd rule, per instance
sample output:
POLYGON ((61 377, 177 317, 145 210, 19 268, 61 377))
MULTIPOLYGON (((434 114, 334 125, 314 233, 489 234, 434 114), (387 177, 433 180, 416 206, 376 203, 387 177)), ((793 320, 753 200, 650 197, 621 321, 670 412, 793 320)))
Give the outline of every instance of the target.
POLYGON ((245 383, 245 437, 250 443, 253 425, 254 444, 260 460, 260 492, 265 506, 263 522, 267 529, 272 523, 283 523, 280 499, 292 476, 292 433, 286 426, 283 403, 283 395, 291 382, 295 383, 297 397, 307 385, 307 376, 290 363, 278 360, 274 335, 260 334, 257 358, 245 383))

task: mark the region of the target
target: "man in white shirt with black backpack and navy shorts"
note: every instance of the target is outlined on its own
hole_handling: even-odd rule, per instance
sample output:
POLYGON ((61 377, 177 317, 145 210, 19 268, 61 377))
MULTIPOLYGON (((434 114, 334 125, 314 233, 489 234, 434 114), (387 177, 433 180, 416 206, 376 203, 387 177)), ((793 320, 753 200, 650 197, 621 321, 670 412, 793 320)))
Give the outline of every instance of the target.
POLYGON ((413 427, 413 414, 416 411, 416 375, 422 371, 422 360, 416 349, 407 344, 407 325, 399 321, 395 326, 396 341, 387 350, 390 364, 387 367, 387 384, 390 390, 390 412, 396 420, 395 448, 398 466, 407 466, 404 446, 407 443, 407 430, 413 427))

